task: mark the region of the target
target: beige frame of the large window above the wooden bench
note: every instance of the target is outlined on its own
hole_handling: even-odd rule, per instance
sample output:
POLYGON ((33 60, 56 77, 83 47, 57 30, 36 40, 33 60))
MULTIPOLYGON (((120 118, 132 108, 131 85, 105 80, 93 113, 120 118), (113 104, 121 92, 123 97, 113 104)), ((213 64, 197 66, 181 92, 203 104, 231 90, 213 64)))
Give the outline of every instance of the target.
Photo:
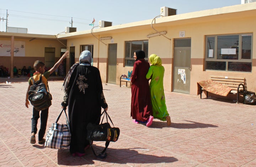
MULTIPOLYGON (((205 51, 204 51, 204 70, 205 71, 226 71, 226 72, 240 72, 240 73, 251 73, 252 72, 252 46, 253 46, 253 33, 240 33, 240 34, 222 34, 222 35, 206 35, 205 36, 205 51), (218 37, 219 36, 239 36, 238 41, 238 59, 218 59, 217 53, 218 53, 218 37), (251 58, 250 59, 242 59, 242 37, 243 36, 251 36, 251 58), (214 45, 213 49, 213 57, 209 57, 209 48, 208 48, 208 38, 214 38, 214 45), (225 62, 225 70, 217 70, 217 69, 207 69, 207 62, 225 62), (240 70, 229 70, 229 62, 231 63, 251 63, 251 71, 240 71, 240 70)), ((235 44, 234 44, 235 45, 235 44)), ((221 48, 219 48, 221 49, 221 48)))

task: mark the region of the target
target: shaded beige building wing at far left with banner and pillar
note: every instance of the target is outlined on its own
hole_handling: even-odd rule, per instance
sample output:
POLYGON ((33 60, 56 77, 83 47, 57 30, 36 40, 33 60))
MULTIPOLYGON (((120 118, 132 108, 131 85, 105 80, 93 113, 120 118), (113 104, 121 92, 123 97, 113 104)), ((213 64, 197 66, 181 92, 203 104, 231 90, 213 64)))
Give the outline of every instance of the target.
POLYGON ((53 67, 62 52, 66 51, 66 40, 59 40, 55 35, 24 34, 0 32, 0 65, 17 69, 23 66, 33 68, 34 61, 45 62, 46 67, 53 67), (14 57, 11 61, 11 44, 14 42, 14 57))

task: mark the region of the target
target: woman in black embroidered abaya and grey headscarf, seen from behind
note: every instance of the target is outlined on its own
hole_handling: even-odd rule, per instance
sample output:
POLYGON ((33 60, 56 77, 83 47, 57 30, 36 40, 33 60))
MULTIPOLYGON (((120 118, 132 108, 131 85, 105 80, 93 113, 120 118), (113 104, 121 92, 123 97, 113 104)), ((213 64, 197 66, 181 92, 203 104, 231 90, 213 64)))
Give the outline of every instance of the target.
POLYGON ((70 153, 73 156, 85 155, 85 149, 89 147, 86 126, 89 122, 98 125, 100 119, 97 119, 101 114, 101 108, 108 109, 100 71, 91 66, 91 61, 91 52, 83 51, 79 63, 70 68, 64 81, 65 96, 62 107, 68 106, 71 129, 70 153))

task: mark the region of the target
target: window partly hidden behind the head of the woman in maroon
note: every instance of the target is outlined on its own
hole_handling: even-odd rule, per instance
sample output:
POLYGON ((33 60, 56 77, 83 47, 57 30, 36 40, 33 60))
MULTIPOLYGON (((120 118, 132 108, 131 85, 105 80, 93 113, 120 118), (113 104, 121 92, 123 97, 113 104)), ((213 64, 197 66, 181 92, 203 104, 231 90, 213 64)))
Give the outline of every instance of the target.
POLYGON ((148 40, 146 41, 126 41, 125 42, 125 66, 133 67, 135 62, 134 51, 143 50, 145 52, 145 60, 148 61, 148 40))

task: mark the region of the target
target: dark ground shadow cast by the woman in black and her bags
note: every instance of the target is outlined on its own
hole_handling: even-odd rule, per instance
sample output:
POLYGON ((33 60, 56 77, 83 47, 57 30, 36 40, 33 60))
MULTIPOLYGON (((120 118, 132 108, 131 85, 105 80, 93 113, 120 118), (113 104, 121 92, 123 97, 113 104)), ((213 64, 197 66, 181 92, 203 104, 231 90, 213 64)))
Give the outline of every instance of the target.
MULTIPOLYGON (((101 146, 93 145, 97 150, 103 150, 101 146)), ((145 154, 139 153, 137 150, 140 148, 131 148, 131 149, 107 149, 107 157, 105 159, 100 159, 92 154, 92 151, 88 149, 86 151, 87 156, 73 157, 69 149, 58 150, 58 165, 67 165, 67 166, 79 166, 79 165, 91 165, 94 164, 94 160, 101 161, 101 165, 106 163, 172 163, 178 161, 178 159, 171 156, 155 156, 147 155, 148 151, 145 151, 145 154)), ((97 154, 97 153, 96 153, 97 154)), ((152 154, 150 152, 149 154, 152 154)))

